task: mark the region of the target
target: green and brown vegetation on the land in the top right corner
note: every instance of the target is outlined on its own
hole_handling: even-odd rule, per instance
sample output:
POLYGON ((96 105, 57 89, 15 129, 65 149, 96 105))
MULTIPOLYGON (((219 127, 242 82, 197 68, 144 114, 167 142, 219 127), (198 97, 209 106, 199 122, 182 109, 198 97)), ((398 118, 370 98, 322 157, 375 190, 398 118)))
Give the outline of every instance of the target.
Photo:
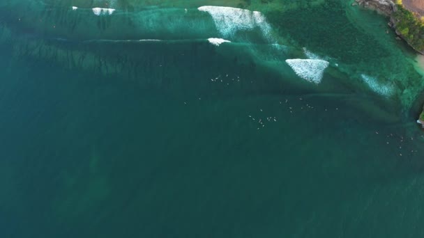
POLYGON ((418 51, 424 51, 424 21, 397 2, 398 10, 393 13, 396 29, 409 44, 418 51))

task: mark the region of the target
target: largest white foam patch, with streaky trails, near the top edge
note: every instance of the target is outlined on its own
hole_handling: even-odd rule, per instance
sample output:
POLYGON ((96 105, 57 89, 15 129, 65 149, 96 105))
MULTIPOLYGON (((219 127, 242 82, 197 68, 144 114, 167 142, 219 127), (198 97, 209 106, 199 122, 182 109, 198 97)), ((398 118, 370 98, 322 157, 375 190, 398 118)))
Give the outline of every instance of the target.
POLYGON ((269 38, 271 26, 262 13, 222 6, 202 6, 197 9, 211 15, 222 36, 230 37, 237 31, 252 31, 259 28, 265 38, 269 38))

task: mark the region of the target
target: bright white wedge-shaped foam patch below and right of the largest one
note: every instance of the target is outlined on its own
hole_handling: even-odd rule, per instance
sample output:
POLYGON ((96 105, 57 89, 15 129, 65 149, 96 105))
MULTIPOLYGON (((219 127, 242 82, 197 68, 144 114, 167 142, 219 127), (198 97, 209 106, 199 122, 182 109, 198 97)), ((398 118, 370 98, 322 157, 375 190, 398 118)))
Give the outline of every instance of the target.
POLYGON ((287 59, 286 63, 294 70, 298 77, 319 84, 324 75, 324 70, 330 63, 317 59, 287 59))

